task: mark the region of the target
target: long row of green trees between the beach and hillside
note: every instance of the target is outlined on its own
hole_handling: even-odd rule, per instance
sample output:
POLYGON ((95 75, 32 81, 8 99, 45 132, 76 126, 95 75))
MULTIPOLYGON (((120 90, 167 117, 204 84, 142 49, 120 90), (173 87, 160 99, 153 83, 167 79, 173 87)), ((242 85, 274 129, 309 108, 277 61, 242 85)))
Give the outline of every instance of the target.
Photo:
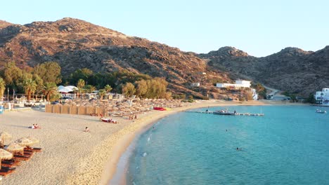
POLYGON ((27 95, 44 95, 46 100, 58 100, 57 85, 76 85, 76 93, 91 93, 98 89, 101 99, 112 90, 130 97, 169 98, 167 81, 164 78, 151 78, 146 74, 136 74, 127 70, 93 73, 90 69, 77 69, 63 77, 57 62, 44 62, 35 67, 20 69, 15 62, 8 62, 0 71, 0 97, 6 89, 27 95))

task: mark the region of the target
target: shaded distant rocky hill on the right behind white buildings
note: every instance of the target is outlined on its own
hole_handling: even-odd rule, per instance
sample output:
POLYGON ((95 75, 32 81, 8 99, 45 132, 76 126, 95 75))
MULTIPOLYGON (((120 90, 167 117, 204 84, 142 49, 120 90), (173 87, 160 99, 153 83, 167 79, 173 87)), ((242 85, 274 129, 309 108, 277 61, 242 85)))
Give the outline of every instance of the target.
POLYGON ((199 56, 209 60, 209 67, 229 71, 236 78, 250 78, 302 96, 329 87, 329 46, 316 52, 285 48, 267 57, 224 47, 199 56))

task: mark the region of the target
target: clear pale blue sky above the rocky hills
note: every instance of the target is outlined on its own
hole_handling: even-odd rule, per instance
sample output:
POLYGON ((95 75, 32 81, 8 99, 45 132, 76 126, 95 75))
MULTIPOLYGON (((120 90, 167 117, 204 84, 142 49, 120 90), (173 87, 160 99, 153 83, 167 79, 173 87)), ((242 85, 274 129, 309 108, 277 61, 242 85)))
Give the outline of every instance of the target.
POLYGON ((325 0, 20 0, 0 5, 0 20, 15 24, 78 18, 195 53, 233 46, 264 57, 288 46, 315 51, 329 45, 325 0))

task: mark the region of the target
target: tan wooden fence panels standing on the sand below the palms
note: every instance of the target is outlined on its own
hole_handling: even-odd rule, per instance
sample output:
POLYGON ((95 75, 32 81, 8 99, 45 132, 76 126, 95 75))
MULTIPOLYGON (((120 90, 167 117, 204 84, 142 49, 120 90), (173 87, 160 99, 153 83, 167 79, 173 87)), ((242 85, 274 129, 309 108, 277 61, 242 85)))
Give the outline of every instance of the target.
POLYGON ((46 112, 55 114, 105 115, 106 110, 101 107, 78 107, 75 105, 46 104, 46 112))

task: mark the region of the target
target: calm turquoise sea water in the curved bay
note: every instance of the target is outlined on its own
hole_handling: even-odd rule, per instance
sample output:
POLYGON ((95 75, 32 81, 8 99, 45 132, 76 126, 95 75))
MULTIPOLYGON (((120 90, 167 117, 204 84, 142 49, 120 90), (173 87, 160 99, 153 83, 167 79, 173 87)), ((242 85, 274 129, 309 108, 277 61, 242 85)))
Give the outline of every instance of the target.
POLYGON ((138 137, 127 184, 329 184, 329 114, 315 113, 329 107, 226 108, 265 116, 163 118, 138 137))

